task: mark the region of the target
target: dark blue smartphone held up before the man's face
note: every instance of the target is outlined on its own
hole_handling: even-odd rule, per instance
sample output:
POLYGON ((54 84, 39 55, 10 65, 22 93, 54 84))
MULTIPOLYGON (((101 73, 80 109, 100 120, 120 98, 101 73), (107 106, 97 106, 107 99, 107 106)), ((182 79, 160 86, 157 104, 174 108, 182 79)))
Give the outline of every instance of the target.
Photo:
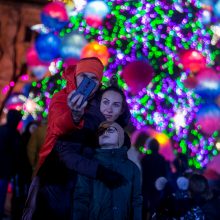
POLYGON ((88 100, 89 96, 91 95, 95 87, 96 87, 96 82, 94 80, 90 79, 89 77, 84 77, 79 87, 72 95, 71 99, 77 94, 83 95, 83 100, 82 103, 80 104, 80 106, 82 106, 84 102, 88 100))

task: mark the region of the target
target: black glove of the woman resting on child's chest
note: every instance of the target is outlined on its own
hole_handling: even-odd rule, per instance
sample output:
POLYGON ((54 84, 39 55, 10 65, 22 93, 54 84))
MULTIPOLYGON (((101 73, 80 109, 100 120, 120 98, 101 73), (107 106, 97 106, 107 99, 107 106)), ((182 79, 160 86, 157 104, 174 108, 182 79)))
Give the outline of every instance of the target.
POLYGON ((96 178, 110 189, 117 188, 127 183, 127 180, 121 174, 102 165, 98 166, 96 178))

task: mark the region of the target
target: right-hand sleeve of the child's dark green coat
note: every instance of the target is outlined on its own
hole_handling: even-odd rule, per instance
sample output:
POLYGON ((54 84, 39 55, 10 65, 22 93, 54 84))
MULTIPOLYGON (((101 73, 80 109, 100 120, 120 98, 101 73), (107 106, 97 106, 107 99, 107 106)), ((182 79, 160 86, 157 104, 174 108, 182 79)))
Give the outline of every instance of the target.
POLYGON ((134 166, 133 190, 132 190, 133 220, 142 219, 142 194, 141 194, 141 173, 139 168, 134 166))

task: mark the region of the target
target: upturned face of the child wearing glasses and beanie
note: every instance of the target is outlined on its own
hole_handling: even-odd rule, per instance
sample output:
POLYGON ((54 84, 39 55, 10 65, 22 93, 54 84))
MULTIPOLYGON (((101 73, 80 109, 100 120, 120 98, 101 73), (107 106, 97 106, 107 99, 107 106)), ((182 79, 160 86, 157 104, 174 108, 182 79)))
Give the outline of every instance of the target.
POLYGON ((108 127, 99 136, 99 145, 101 148, 118 148, 118 131, 114 127, 108 127))

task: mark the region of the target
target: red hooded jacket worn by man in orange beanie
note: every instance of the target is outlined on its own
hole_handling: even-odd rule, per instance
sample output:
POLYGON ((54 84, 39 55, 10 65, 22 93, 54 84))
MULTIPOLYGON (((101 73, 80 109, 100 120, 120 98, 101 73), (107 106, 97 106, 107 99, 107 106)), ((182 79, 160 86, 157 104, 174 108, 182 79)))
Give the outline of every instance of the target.
POLYGON ((72 112, 67 105, 67 97, 71 91, 76 89, 75 83, 75 66, 70 66, 64 72, 64 78, 67 80, 67 86, 63 90, 56 93, 51 99, 48 112, 48 127, 45 142, 39 153, 39 161, 36 167, 36 174, 44 163, 46 157, 53 149, 58 137, 74 129, 83 127, 83 120, 79 124, 74 124, 72 112))

